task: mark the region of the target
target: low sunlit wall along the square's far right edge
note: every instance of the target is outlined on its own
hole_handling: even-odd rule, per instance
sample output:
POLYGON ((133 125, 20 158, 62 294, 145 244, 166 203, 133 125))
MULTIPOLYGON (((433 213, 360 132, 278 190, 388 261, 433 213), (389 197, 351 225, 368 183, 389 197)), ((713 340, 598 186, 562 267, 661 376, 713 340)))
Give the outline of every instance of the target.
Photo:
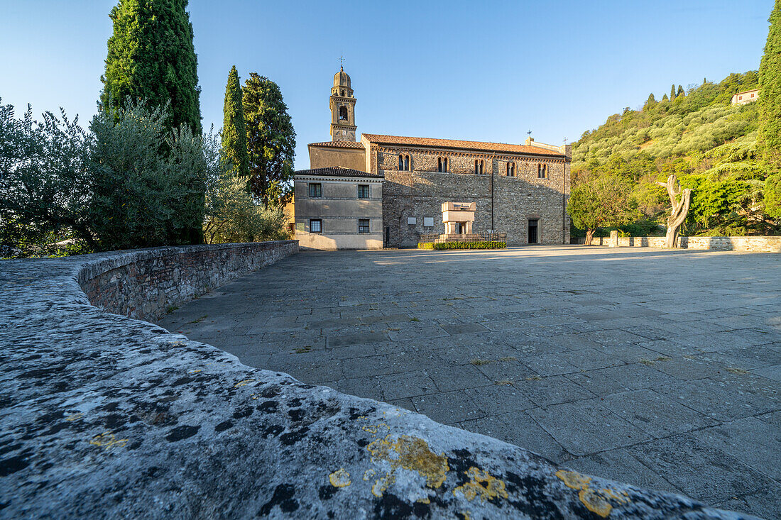
MULTIPOLYGON (((572 239, 572 244, 585 242, 583 237, 572 239)), ((610 246, 610 237, 594 237, 591 245, 610 246)), ((681 249, 781 253, 781 237, 679 237, 677 246, 681 249)), ((618 247, 664 248, 665 237, 619 237, 618 247)))

